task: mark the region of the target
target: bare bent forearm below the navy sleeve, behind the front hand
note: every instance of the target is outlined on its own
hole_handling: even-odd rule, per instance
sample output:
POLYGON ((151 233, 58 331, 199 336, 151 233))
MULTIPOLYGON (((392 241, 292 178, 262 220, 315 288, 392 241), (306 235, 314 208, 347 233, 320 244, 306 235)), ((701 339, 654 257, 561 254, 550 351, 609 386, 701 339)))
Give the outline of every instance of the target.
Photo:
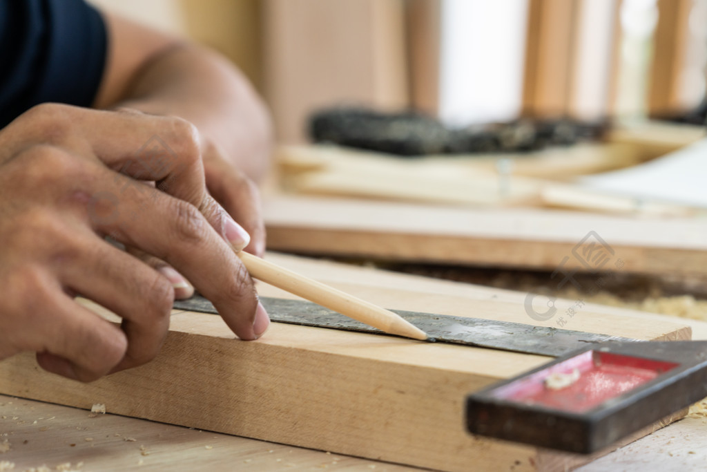
POLYGON ((271 123, 245 76, 220 55, 173 45, 134 76, 115 106, 175 115, 192 122, 224 156, 254 180, 268 167, 271 123))

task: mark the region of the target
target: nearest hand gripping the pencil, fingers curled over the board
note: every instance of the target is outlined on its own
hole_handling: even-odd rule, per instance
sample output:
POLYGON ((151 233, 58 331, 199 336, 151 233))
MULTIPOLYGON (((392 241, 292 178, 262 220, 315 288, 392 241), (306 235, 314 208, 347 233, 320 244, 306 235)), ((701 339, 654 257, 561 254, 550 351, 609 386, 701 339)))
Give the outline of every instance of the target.
POLYGON ((30 350, 50 372, 91 381, 156 355, 173 286, 104 236, 179 270, 239 338, 262 335, 267 313, 226 242, 243 248, 247 234, 206 191, 201 159, 198 133, 173 117, 47 104, 1 129, 0 359, 30 350), (174 154, 136 156, 156 137, 174 154))

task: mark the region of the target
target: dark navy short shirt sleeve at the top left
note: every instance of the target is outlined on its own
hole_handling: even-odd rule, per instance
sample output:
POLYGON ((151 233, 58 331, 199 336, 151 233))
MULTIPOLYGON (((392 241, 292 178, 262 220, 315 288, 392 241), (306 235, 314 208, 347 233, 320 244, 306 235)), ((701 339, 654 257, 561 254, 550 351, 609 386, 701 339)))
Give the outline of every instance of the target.
POLYGON ((45 102, 90 106, 107 34, 83 0, 0 0, 0 127, 45 102))

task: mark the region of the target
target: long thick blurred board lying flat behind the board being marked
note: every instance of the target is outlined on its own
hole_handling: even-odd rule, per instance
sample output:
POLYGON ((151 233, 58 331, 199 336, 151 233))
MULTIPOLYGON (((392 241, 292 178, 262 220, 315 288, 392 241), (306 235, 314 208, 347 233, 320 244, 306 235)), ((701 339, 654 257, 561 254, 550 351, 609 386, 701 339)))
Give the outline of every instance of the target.
POLYGON ((268 246, 276 251, 542 270, 555 270, 568 258, 568 269, 590 270, 572 251, 594 231, 623 261, 620 269, 604 270, 707 274, 706 219, 294 195, 269 195, 264 218, 268 246))

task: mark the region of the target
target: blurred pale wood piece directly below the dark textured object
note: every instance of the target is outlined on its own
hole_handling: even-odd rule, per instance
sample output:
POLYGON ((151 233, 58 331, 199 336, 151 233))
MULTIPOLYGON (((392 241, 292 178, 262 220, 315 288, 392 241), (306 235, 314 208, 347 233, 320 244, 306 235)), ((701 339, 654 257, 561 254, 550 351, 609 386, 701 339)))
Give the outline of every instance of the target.
POLYGON ((282 185, 305 194, 512 205, 534 200, 542 185, 531 178, 501 178, 476 162, 432 157, 409 161, 336 146, 282 146, 277 154, 282 185))

